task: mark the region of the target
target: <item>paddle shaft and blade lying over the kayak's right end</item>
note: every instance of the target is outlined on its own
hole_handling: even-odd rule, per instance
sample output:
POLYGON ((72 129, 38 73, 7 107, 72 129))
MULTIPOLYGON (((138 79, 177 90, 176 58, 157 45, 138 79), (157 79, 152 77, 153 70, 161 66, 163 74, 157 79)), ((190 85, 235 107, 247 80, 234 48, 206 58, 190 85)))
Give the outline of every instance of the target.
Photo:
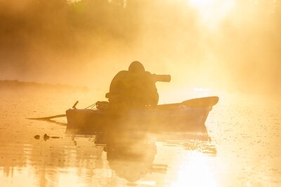
POLYGON ((195 99, 189 99, 181 103, 174 103, 174 104, 159 104, 157 106, 158 109, 165 109, 165 108, 171 108, 175 106, 188 106, 190 108, 207 108, 214 106, 218 103, 218 97, 212 96, 212 97, 200 97, 195 99))

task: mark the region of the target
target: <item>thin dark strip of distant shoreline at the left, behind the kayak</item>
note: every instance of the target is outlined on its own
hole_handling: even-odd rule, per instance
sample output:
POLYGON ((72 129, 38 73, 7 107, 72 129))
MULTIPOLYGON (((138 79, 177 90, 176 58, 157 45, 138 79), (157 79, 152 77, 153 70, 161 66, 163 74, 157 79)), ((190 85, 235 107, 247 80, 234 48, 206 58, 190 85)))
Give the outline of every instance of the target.
POLYGON ((86 86, 73 86, 67 84, 51 84, 51 83, 37 83, 37 82, 25 82, 18 80, 0 80, 0 88, 6 89, 20 89, 20 88, 39 88, 48 90, 80 90, 89 91, 86 86))

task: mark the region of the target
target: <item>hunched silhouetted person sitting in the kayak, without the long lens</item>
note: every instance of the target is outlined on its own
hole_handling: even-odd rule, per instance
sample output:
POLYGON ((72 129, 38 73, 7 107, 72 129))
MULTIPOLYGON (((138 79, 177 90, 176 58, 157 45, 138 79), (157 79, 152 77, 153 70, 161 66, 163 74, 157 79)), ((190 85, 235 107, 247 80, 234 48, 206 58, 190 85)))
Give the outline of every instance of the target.
POLYGON ((110 83, 110 92, 105 97, 114 110, 154 107, 159 100, 156 81, 141 62, 133 61, 128 71, 119 71, 115 75, 110 83))

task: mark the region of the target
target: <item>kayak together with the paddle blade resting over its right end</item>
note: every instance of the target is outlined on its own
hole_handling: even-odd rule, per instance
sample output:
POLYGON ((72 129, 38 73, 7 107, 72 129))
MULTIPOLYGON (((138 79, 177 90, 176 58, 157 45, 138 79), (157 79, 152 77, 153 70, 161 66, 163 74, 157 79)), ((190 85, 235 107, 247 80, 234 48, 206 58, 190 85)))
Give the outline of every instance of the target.
POLYGON ((67 134, 96 134, 115 128, 145 132, 202 132, 218 97, 190 99, 179 104, 162 104, 155 109, 131 109, 112 116, 107 109, 68 109, 67 134))

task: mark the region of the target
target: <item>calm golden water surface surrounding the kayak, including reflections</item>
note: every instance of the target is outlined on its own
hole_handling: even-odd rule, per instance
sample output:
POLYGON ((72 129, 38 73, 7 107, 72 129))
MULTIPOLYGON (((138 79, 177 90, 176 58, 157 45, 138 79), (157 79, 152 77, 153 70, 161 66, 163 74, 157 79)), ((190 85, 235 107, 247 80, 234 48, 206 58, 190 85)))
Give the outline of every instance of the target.
POLYGON ((93 95, 0 91, 1 186, 281 186, 280 100, 221 95, 206 122, 211 141, 116 133, 105 144, 101 135, 65 135, 65 119, 25 119, 77 100, 84 108, 93 95))

